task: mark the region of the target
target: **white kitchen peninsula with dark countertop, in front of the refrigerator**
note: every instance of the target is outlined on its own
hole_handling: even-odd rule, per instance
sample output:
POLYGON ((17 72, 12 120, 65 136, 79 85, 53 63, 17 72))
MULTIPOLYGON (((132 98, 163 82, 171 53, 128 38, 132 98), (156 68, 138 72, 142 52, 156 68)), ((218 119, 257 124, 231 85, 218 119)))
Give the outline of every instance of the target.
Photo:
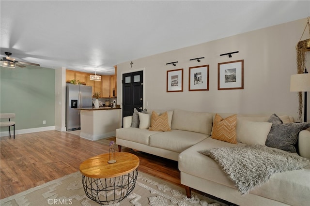
POLYGON ((77 108, 80 110, 80 137, 98 140, 115 136, 115 130, 122 127, 121 108, 77 108))

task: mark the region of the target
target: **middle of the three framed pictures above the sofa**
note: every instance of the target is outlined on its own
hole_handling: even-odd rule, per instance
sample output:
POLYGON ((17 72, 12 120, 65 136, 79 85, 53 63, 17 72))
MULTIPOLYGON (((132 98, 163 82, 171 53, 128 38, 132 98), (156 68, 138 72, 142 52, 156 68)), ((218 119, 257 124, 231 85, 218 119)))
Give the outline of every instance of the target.
POLYGON ((209 90, 209 64, 189 67, 188 91, 209 90))

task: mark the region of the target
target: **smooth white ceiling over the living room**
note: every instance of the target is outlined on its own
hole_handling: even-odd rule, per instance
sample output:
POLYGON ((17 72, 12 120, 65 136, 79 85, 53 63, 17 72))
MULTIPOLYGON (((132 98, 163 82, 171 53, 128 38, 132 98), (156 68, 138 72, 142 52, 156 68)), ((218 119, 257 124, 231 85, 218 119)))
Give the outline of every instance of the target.
POLYGON ((306 18, 310 1, 1 0, 0 11, 1 58, 110 75, 125 61, 306 18))

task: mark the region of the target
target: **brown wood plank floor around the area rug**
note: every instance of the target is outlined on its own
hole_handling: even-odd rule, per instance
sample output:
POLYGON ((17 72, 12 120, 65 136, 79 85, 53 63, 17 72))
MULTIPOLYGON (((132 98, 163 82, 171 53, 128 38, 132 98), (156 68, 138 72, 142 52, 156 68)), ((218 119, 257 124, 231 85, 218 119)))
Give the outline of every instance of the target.
MULTIPOLYGON (((140 158, 139 171, 180 185, 178 162, 124 148, 140 158)), ((84 160, 109 146, 68 132, 18 134, 0 140, 0 199, 78 171, 84 160)))

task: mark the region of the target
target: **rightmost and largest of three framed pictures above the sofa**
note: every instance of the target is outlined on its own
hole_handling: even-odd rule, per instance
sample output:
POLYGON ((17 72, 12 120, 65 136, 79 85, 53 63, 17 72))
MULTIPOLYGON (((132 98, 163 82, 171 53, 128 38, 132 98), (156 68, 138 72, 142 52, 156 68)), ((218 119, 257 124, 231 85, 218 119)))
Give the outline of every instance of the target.
POLYGON ((244 60, 217 64, 217 89, 243 89, 244 60))

